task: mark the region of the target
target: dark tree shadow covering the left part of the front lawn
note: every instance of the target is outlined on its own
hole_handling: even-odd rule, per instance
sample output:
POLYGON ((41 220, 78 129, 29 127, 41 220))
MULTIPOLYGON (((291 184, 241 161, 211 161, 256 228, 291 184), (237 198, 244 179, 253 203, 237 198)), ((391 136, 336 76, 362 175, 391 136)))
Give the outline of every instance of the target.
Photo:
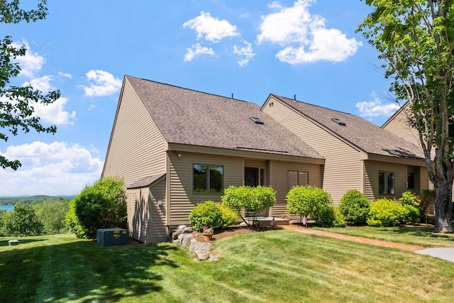
MULTIPOLYGON (((16 246, 18 247, 18 246, 16 246)), ((1 253, 0 293, 10 302, 116 302, 161 290, 155 266, 177 268, 175 246, 98 247, 77 241, 1 253), (12 296, 12 297, 11 297, 12 296)))

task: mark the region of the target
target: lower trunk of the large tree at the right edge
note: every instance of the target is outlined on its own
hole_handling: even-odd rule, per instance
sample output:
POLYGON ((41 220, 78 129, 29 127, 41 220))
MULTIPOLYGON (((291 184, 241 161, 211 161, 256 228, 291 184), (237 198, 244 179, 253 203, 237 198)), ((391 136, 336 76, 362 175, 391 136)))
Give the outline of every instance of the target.
POLYGON ((453 202, 452 199, 453 184, 438 184, 435 188, 435 231, 440 233, 453 232, 453 202))

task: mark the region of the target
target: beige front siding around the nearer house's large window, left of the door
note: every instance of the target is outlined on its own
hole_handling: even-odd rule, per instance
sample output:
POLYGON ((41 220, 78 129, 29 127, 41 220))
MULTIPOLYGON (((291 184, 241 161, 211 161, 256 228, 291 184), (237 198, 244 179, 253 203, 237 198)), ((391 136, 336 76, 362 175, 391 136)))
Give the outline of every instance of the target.
POLYGON ((170 160, 170 222, 167 225, 189 224, 189 213, 204 201, 221 202, 221 194, 192 193, 192 165, 223 165, 224 188, 243 184, 243 159, 187 152, 168 153, 170 160), (181 157, 178 157, 178 154, 181 157))

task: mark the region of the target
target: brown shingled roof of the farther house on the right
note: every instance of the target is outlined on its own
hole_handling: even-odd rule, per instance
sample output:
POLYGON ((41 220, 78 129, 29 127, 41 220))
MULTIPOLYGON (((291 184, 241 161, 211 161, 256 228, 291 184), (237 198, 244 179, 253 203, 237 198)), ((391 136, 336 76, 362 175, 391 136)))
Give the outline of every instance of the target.
POLYGON ((421 148, 365 119, 342 111, 271 95, 318 123, 322 128, 365 153, 403 158, 424 158, 421 148), (338 119, 334 121, 333 119, 338 119), (341 123, 339 123, 341 122, 341 123), (345 123, 345 125, 342 125, 345 123))

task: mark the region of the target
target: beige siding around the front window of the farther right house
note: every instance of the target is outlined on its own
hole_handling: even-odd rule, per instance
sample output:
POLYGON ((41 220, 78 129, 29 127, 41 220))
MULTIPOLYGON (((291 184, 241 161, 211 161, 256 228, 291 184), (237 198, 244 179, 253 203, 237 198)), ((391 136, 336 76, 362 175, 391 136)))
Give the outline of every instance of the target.
POLYGON ((365 190, 367 199, 399 199, 406 191, 406 165, 365 160, 365 190), (378 172, 394 172, 394 194, 378 194, 378 172))

